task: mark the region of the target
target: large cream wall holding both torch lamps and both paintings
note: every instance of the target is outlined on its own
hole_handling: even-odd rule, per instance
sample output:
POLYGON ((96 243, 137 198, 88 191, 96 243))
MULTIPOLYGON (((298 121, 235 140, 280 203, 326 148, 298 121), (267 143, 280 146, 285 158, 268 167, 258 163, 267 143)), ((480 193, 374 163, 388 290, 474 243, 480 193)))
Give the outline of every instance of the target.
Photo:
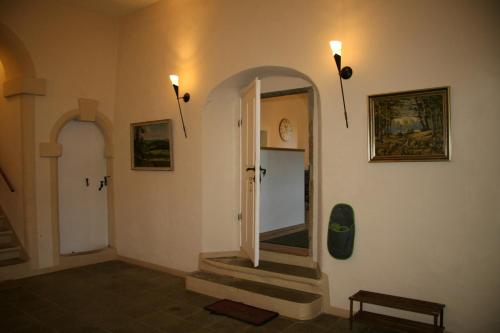
MULTIPOLYGON (((204 238, 202 214, 233 204, 222 199, 230 191, 219 196, 217 181, 203 177, 201 129, 210 122, 204 106, 235 73, 291 67, 308 75, 320 96, 322 229, 335 203, 356 213, 350 260, 331 258, 322 234, 320 264, 330 276, 332 304, 346 308, 350 294, 370 289, 446 303, 452 331, 498 329, 498 9, 492 1, 193 0, 162 1, 126 17, 115 114, 119 251, 194 270, 200 243, 220 248, 212 243, 218 237, 235 237, 234 229, 210 221, 210 233, 220 236, 204 238), (344 63, 354 69, 344 84, 349 129, 331 39, 343 40, 344 63), (188 139, 171 72, 192 94, 184 106, 188 139), (367 163, 367 95, 443 85, 451 87, 452 161, 367 163), (176 126, 176 170, 130 171, 129 123, 160 118, 176 126)), ((219 126, 215 131, 227 125, 210 124, 219 126)))

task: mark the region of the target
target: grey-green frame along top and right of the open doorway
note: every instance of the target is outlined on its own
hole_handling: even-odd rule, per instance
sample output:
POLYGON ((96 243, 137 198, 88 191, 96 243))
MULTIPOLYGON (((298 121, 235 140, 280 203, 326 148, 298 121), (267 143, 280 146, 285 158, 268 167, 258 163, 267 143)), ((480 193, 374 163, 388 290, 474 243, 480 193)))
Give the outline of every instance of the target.
MULTIPOLYGON (((309 211, 307 215, 307 227, 309 231, 309 249, 308 249, 308 254, 306 257, 311 257, 315 258, 316 257, 316 252, 314 251, 316 245, 318 244, 318 240, 316 237, 315 233, 315 227, 317 227, 317 222, 314 220, 314 217, 318 217, 317 210, 316 210, 316 193, 315 193, 315 179, 317 178, 314 175, 314 166, 316 165, 316 160, 314 159, 317 154, 315 154, 315 134, 316 134, 316 126, 315 126, 315 117, 314 117, 314 110, 315 110, 315 93, 314 93, 314 87, 313 86, 308 86, 308 87, 303 87, 303 88, 294 88, 294 89, 285 89, 285 90, 278 90, 278 91, 271 91, 271 92, 266 92, 266 93, 261 93, 260 98, 265 99, 265 98, 272 98, 272 97, 282 97, 282 96, 291 96, 291 95, 298 95, 298 94, 304 94, 306 93, 308 95, 307 98, 307 109, 308 109, 308 144, 309 144, 309 211), (316 214, 314 214, 316 212, 316 214), (315 223, 316 222, 316 223, 315 223)), ((260 150, 260 147, 259 147, 260 150)), ((260 245, 260 244, 259 244, 260 245)), ((286 247, 283 247, 282 251, 283 253, 287 254, 293 254, 297 255, 297 251, 293 251, 292 249, 286 249, 286 247)), ((268 251, 273 251, 272 247, 269 247, 268 251)), ((281 252, 281 251, 280 251, 281 252)), ((301 252, 301 251, 299 251, 301 252)), ((301 255, 301 254, 298 254, 301 255)))

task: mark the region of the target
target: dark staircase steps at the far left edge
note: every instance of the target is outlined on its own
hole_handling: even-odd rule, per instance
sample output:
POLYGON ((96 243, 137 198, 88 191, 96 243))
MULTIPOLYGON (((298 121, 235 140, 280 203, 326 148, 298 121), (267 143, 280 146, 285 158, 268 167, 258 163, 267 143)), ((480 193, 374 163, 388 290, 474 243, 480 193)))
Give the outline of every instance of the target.
POLYGON ((0 267, 21 264, 26 259, 7 217, 0 210, 0 267))

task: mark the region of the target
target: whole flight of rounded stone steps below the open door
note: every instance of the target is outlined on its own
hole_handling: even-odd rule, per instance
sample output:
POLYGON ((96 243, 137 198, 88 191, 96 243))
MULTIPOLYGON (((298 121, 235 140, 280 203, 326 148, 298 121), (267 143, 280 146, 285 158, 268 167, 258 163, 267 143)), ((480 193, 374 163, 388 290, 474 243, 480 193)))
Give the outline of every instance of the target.
POLYGON ((312 261, 265 252, 259 267, 239 253, 201 255, 200 270, 186 277, 186 289, 299 320, 318 316, 329 302, 327 276, 312 261))

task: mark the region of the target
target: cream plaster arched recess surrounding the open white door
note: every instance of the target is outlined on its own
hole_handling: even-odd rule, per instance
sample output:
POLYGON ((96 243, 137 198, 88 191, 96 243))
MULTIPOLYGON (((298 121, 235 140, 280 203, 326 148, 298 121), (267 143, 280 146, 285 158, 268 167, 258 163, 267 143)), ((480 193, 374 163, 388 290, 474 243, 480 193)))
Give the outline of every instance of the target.
MULTIPOLYGON (((306 82, 312 93, 311 197, 312 256, 318 260, 320 248, 318 205, 319 169, 319 93, 316 84, 306 74, 289 67, 261 66, 240 71, 217 83, 207 97, 202 115, 202 252, 239 250, 239 100, 240 90, 253 79, 277 78, 269 91, 299 88, 296 82, 306 82), (285 85, 287 81, 289 84, 285 85), (281 87, 280 87, 281 84, 281 87), (214 190, 217 195, 214 195, 214 190)), ((301 86, 301 88, 304 85, 301 86)))

